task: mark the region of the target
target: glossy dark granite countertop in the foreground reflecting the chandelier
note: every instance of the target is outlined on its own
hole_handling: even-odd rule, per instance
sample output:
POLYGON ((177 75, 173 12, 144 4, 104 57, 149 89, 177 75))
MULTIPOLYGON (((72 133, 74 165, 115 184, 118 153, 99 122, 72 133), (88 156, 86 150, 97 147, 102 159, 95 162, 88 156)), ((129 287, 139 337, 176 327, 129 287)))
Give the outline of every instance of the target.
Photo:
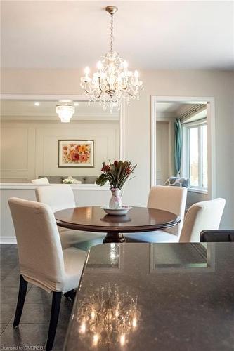
POLYGON ((234 350, 234 243, 94 246, 64 350, 234 350))

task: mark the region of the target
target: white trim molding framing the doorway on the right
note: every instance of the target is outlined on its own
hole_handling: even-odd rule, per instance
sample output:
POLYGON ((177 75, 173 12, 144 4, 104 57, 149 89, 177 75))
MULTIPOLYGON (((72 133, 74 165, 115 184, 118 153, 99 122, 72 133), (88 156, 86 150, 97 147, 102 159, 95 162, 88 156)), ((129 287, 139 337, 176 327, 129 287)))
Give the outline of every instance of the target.
POLYGON ((208 196, 216 197, 216 144, 214 97, 151 96, 151 187, 156 185, 156 105, 158 102, 207 104, 208 196))

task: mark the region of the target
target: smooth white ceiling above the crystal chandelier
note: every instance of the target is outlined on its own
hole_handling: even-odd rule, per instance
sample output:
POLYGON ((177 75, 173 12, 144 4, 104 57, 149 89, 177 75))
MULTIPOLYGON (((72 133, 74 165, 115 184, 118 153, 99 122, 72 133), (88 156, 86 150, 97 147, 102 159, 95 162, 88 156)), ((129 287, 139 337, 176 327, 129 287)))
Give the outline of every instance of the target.
POLYGON ((233 1, 1 1, 1 65, 94 67, 109 48, 130 69, 233 69, 233 1))

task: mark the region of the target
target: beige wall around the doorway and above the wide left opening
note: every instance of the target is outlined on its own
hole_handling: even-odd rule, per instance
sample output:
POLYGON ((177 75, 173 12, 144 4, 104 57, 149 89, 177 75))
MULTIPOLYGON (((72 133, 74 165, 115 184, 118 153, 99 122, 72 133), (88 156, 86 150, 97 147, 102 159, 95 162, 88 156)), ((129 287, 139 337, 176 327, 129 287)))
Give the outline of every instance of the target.
MULTIPOLYGON (((6 69, 2 93, 81 94, 74 69, 6 69)), ((201 70, 158 70, 141 72, 144 91, 140 101, 127 107, 125 155, 138 164, 136 178, 126 185, 124 202, 145 206, 150 189, 150 95, 209 96, 215 98, 216 196, 227 201, 222 227, 234 227, 233 186, 233 89, 234 73, 201 70)))

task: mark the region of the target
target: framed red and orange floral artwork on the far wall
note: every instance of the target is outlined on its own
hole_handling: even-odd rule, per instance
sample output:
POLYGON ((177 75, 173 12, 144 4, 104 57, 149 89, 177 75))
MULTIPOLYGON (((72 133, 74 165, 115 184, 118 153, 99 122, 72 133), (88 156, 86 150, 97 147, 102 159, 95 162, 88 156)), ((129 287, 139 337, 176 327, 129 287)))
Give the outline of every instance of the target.
POLYGON ((58 167, 94 167, 94 140, 58 140, 58 167))

